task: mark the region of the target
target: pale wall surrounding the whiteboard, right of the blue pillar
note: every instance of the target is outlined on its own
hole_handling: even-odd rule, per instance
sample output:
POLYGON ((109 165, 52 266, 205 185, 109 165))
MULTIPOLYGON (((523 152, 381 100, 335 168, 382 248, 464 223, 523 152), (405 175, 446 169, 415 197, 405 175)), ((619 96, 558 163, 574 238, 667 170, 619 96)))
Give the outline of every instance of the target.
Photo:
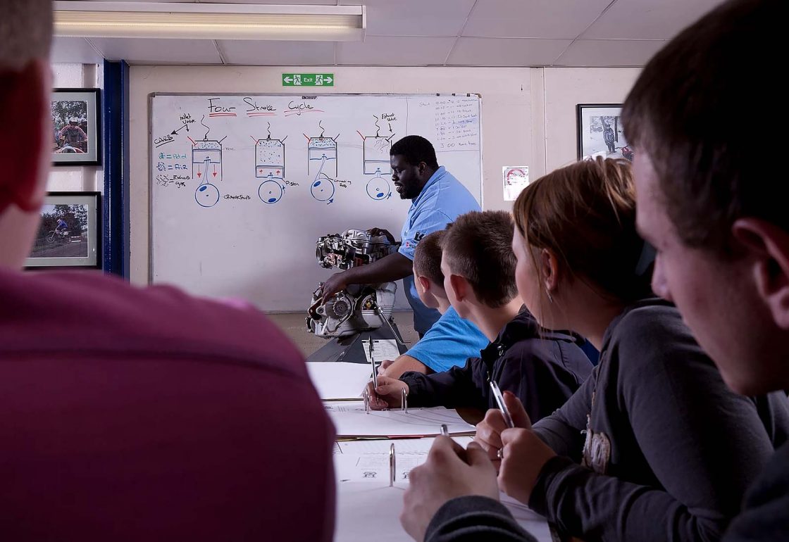
MULTIPOLYGON (((620 102, 638 69, 361 68, 132 66, 129 89, 130 274, 148 281, 148 95, 151 92, 303 91, 282 87, 283 72, 334 72, 337 93, 482 95, 485 209, 507 209, 503 165, 528 165, 535 179, 575 159, 575 104, 620 102)), ((462 175, 462 172, 453 172, 462 175)))

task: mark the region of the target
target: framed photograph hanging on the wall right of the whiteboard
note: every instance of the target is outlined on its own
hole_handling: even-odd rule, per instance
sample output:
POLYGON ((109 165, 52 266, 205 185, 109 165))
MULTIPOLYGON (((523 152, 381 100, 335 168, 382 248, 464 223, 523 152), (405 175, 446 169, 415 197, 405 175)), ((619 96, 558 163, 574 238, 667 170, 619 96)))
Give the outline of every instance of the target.
POLYGON ((602 156, 633 161, 633 150, 625 141, 621 103, 579 103, 578 160, 602 156))

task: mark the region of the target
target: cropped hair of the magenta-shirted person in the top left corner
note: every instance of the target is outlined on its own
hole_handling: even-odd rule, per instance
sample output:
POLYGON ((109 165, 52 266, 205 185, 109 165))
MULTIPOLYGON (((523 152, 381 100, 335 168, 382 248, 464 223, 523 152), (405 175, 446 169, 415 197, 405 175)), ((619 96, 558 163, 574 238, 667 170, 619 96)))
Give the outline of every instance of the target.
POLYGON ((17 71, 33 59, 49 58, 51 43, 50 0, 2 0, 0 72, 17 71))

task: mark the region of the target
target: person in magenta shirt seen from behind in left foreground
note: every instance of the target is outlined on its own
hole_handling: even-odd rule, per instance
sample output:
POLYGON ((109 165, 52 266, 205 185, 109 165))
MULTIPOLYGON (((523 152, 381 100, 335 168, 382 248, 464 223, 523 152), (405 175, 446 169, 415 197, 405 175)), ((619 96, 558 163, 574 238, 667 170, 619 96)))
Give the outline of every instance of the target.
POLYGON ((335 432, 267 318, 20 272, 51 161, 52 6, 2 9, 0 114, 15 128, 0 132, 14 150, 0 177, 0 538, 331 540, 335 432))

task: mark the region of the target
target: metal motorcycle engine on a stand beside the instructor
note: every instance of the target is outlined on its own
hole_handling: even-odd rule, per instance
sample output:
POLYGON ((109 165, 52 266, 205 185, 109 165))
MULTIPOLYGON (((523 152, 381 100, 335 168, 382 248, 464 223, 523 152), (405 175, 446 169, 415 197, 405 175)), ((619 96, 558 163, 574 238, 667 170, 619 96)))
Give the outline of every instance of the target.
MULTIPOLYGON (((396 251, 397 243, 386 236, 349 229, 316 241, 315 256, 324 269, 350 269, 380 260, 396 251)), ((351 284, 323 303, 323 283, 312 292, 307 310, 307 330, 324 339, 353 336, 380 328, 391 318, 394 308, 394 282, 383 284, 351 284)))

